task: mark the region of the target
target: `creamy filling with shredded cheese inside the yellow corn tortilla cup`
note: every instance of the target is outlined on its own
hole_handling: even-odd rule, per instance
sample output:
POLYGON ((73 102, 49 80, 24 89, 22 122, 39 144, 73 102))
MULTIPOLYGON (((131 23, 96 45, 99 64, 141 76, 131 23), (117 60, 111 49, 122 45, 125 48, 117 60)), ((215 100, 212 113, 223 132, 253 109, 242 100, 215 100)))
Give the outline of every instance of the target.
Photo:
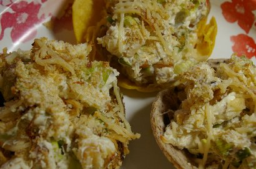
MULTIPOLYGON (((115 0, 107 5, 109 29, 97 38, 117 57, 122 73, 135 84, 164 84, 179 74, 180 61, 198 62, 197 24, 207 15, 206 1, 115 0), (191 24, 190 24, 191 23, 191 24), (123 62, 125 60, 125 62, 123 62), (150 67, 150 73, 145 68, 150 67), (179 69, 179 68, 178 68, 179 69)), ((201 58, 200 58, 201 59, 201 58)), ((207 59, 207 57, 205 57, 207 59)), ((114 59, 113 59, 114 60, 114 59)))

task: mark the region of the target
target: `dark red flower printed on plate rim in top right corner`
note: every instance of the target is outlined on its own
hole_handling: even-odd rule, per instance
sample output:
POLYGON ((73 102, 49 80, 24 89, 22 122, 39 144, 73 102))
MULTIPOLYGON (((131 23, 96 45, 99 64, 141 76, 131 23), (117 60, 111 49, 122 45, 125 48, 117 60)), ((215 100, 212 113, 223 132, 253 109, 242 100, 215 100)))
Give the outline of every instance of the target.
POLYGON ((255 21, 252 11, 256 10, 256 0, 232 0, 220 6, 228 22, 238 21, 239 26, 248 34, 255 21))

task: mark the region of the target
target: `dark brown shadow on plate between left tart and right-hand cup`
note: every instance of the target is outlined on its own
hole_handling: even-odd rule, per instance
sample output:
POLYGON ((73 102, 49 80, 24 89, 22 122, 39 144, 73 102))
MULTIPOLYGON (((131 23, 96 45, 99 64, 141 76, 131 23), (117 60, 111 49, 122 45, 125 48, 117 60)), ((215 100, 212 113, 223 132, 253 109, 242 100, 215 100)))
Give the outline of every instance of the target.
POLYGON ((130 153, 126 156, 122 168, 174 168, 160 151, 155 141, 150 125, 150 109, 151 104, 135 112, 129 120, 132 131, 140 133, 140 138, 130 142, 130 153))

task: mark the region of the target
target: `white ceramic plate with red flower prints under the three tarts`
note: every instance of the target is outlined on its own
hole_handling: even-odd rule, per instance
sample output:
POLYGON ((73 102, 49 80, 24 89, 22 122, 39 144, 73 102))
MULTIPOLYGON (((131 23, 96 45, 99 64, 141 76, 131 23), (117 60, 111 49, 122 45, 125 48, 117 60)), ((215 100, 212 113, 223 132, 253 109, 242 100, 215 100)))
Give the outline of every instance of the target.
MULTIPOLYGON (((209 18, 214 16, 218 24, 215 49, 210 58, 229 58, 237 52, 247 54, 256 63, 256 1, 210 2, 209 18)), ((27 50, 34 38, 42 36, 75 44, 71 4, 72 0, 0 0, 0 49, 27 50)), ((156 93, 125 89, 122 92, 132 130, 141 134, 139 140, 130 142, 130 154, 122 168, 174 168, 160 152, 150 127, 150 108, 156 93)))

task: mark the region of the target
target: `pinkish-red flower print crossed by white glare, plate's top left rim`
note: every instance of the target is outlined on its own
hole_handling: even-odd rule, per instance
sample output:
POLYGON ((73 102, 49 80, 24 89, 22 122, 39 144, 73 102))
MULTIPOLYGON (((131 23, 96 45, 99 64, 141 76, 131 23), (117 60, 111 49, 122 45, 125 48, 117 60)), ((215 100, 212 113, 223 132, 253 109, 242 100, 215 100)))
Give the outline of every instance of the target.
POLYGON ((0 40, 4 37, 4 31, 11 27, 12 42, 21 40, 27 42, 36 36, 36 25, 44 21, 44 15, 37 17, 41 4, 36 1, 19 1, 8 5, 13 12, 5 12, 1 17, 0 40))

